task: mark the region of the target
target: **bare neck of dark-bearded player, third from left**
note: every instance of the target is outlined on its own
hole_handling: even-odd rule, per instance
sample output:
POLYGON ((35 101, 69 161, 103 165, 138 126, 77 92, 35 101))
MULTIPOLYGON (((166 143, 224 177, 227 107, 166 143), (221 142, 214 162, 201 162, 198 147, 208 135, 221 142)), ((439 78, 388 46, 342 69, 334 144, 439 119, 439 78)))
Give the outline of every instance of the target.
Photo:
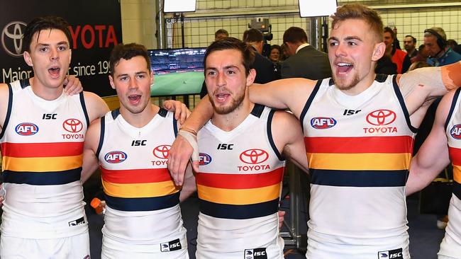
POLYGON ((255 103, 251 103, 248 97, 245 97, 243 102, 228 114, 213 113, 211 117, 211 123, 223 131, 230 132, 235 129, 240 123, 242 123, 248 115, 251 113, 255 103))

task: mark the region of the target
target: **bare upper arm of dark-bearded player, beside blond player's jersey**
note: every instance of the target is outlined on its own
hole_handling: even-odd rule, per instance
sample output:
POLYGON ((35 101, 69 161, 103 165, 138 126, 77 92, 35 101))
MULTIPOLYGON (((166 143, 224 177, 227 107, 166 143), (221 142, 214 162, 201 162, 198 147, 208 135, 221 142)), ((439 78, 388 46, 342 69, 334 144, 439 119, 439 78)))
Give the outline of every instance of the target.
POLYGON ((276 111, 272 118, 272 137, 279 152, 308 173, 309 164, 299 120, 289 112, 276 111))

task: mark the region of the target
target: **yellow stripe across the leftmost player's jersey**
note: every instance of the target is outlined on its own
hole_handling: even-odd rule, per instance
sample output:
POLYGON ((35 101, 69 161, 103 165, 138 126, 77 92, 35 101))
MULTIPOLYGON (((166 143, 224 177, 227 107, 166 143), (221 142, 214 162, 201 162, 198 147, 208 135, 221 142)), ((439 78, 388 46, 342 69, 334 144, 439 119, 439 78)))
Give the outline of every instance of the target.
POLYGON ((16 172, 53 172, 82 167, 83 156, 17 158, 4 156, 2 168, 16 172))

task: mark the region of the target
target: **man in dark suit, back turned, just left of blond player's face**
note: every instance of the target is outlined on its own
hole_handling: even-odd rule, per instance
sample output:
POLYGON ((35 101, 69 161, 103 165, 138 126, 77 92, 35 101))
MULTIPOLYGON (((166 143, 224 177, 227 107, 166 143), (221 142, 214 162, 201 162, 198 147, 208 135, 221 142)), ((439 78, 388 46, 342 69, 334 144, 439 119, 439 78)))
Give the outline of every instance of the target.
POLYGON ((318 80, 331 77, 328 55, 307 43, 307 35, 302 28, 290 27, 285 30, 283 42, 290 57, 282 62, 282 79, 303 77, 318 80))

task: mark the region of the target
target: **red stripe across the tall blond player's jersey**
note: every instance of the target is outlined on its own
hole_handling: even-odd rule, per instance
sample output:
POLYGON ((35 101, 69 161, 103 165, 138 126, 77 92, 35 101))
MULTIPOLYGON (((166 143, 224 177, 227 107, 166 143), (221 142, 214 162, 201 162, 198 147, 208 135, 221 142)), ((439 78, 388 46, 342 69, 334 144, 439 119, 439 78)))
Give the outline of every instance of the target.
POLYGON ((395 137, 304 137, 308 153, 411 153, 413 138, 395 137))

